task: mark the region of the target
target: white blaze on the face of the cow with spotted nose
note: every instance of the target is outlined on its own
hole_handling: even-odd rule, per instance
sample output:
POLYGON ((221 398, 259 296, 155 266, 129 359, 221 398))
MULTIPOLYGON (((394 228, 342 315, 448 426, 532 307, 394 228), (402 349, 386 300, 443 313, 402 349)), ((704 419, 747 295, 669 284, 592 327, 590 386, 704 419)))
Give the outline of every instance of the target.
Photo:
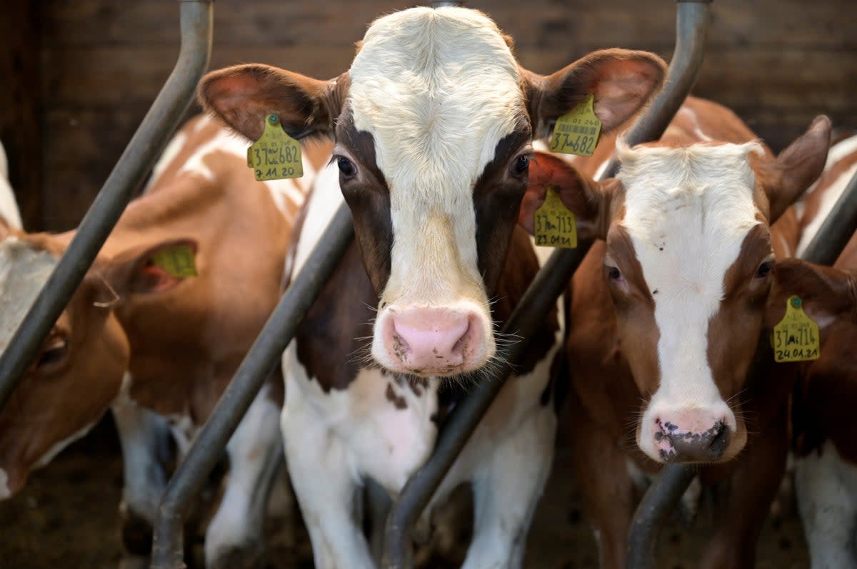
MULTIPOLYGON (((626 188, 623 221, 655 300, 661 385, 652 405, 714 404, 708 327, 724 277, 758 224, 755 176, 747 155, 758 144, 633 150, 619 145, 626 188)), ((734 425, 731 425, 734 427, 734 425)))

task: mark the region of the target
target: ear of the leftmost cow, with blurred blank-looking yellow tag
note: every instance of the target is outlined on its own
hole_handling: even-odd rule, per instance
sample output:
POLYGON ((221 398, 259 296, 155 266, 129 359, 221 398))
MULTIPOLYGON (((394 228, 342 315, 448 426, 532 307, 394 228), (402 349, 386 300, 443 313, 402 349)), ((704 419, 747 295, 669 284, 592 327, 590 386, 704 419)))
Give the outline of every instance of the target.
POLYGON ((193 239, 171 239, 135 246, 99 265, 119 298, 164 293, 197 275, 198 246, 193 239))

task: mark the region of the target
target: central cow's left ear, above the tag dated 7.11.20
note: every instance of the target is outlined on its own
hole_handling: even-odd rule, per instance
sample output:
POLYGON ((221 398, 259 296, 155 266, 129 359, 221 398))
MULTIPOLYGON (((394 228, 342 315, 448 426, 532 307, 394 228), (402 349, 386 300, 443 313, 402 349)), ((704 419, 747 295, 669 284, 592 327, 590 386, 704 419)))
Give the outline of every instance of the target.
POLYGON ((333 135, 348 74, 317 80, 285 69, 252 63, 207 74, 197 90, 202 107, 250 140, 261 137, 268 115, 279 116, 286 133, 333 135))

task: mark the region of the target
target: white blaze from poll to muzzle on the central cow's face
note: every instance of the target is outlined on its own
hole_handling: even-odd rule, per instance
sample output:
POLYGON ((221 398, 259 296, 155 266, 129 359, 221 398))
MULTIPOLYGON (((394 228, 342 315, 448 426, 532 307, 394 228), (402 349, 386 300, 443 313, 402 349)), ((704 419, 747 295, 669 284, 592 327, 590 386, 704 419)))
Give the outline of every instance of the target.
POLYGON ((460 8, 388 15, 349 74, 354 125, 373 135, 391 193, 388 291, 432 302, 431 283, 481 283, 472 188, 524 117, 518 65, 494 22, 460 8), (421 282, 399 282, 410 276, 421 282))

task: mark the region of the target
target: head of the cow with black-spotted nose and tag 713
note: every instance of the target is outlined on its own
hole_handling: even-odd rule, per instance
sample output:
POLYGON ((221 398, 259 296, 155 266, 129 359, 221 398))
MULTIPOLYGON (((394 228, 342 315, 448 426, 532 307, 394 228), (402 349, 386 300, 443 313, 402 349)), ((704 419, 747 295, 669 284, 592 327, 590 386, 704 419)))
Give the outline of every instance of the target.
POLYGON ((716 462, 744 447, 738 395, 770 289, 770 224, 818 177, 829 139, 819 117, 776 159, 757 143, 620 144, 607 181, 550 155, 530 166, 522 217, 554 185, 578 232, 607 241, 603 278, 645 400, 637 442, 650 458, 716 462))

